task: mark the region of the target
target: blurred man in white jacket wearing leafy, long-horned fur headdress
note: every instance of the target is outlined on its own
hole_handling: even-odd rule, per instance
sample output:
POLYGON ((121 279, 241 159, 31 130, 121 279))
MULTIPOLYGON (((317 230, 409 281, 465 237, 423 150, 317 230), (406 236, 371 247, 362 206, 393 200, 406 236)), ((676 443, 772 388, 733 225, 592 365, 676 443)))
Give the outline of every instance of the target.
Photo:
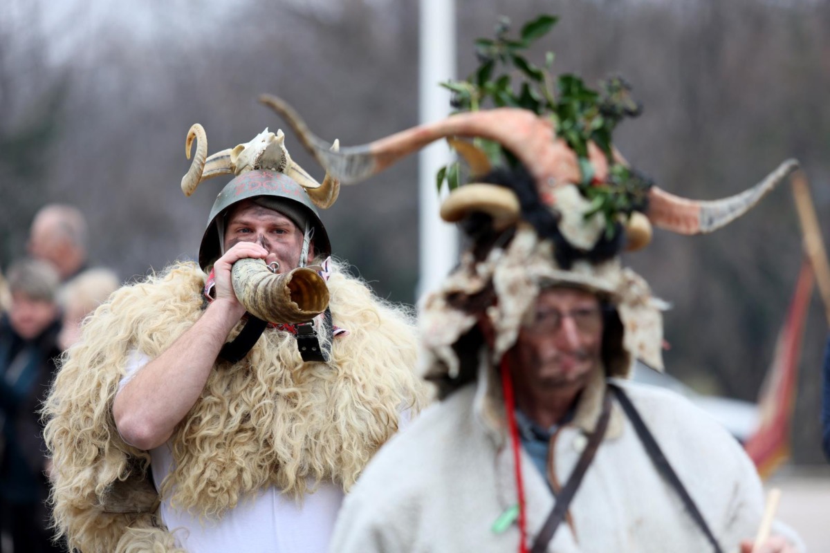
MULTIPOLYGON (((623 80, 599 94, 563 75, 552 90, 520 56, 553 23, 477 42, 481 69, 450 85, 465 113, 340 153, 306 138, 344 182, 449 138, 474 181, 442 204, 470 247, 422 309, 442 401, 369 463, 330 551, 797 551, 778 523, 753 544, 764 497, 740 444, 681 397, 627 381, 636 359, 662 368, 662 318, 620 260, 652 225, 725 226, 796 163, 720 201, 663 192, 612 147, 637 112, 623 80), (527 77, 519 90, 501 63, 527 77)), ((442 172, 451 187, 457 174, 442 172)))

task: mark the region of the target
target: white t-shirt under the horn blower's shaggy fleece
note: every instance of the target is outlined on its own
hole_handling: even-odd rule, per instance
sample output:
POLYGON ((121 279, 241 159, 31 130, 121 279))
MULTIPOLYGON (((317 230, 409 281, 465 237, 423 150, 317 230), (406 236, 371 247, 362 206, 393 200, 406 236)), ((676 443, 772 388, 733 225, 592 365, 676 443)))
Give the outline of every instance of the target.
MULTIPOLYGON (((149 361, 140 352, 131 354, 119 390, 149 361)), ((150 458, 153 481, 159 490, 173 466, 170 444, 151 449, 150 458)), ((339 486, 320 483, 317 491, 306 494, 298 505, 291 495, 269 487, 242 499, 220 521, 199 521, 198 513, 173 508, 170 498, 163 497, 161 518, 179 546, 192 553, 323 553, 328 550, 343 497, 339 486)))

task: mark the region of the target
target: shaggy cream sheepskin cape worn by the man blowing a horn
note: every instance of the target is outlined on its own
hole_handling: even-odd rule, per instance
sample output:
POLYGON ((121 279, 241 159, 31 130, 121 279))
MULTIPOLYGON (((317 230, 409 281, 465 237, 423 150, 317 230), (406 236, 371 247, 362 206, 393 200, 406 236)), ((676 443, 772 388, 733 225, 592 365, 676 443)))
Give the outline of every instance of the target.
MULTIPOLYGON (((113 513, 101 503, 149 470, 149 454, 125 444, 112 417, 129 352, 156 357, 191 327, 203 313, 204 281, 196 264, 183 263, 125 286, 66 355, 44 412, 54 519, 70 546, 176 551, 157 511, 113 513)), ((348 490, 399 415, 420 410, 426 388, 413 371, 411 314, 336 266, 329 289, 334 324, 349 331, 334 339, 330 363, 303 363, 295 337, 271 328, 242 361, 217 361, 170 439, 175 466, 161 493, 173 504, 216 519, 269 485, 297 501, 313 492, 307 482, 348 490)))

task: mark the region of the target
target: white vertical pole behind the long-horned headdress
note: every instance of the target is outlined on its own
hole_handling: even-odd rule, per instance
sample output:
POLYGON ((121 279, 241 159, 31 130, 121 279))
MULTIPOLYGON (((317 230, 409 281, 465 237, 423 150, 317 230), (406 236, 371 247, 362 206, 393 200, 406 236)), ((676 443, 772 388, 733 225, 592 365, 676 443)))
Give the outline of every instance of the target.
MULTIPOLYGON (((426 123, 443 119, 450 113, 450 92, 438 83, 456 76, 455 0, 421 0, 419 28, 419 119, 426 123)), ((435 174, 453 161, 447 143, 430 144, 422 150, 418 161, 420 277, 416 296, 420 302, 457 263, 458 235, 455 226, 445 223, 438 215, 441 202, 435 174)))

